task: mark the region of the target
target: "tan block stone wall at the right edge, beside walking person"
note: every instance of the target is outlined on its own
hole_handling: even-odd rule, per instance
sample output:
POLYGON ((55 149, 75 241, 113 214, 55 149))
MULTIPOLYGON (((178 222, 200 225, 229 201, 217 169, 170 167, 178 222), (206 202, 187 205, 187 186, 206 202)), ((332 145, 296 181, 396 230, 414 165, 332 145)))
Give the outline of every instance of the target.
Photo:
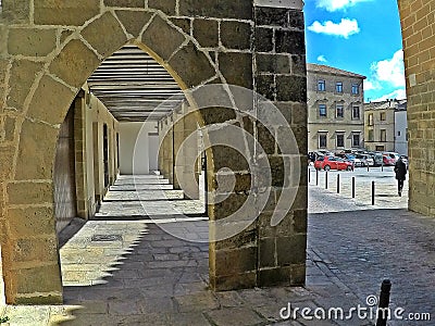
POLYGON ((435 1, 398 3, 407 77, 409 208, 435 215, 435 1))

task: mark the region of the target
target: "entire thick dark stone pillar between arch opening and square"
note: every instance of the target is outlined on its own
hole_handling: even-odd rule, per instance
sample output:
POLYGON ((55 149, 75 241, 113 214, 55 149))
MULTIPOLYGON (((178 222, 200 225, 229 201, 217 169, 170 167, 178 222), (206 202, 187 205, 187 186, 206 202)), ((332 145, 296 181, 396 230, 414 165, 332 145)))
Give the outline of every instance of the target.
MULTIPOLYGON (((302 1, 289 1, 288 4, 283 1, 253 2, 252 55, 246 51, 250 49, 246 34, 236 33, 249 27, 244 22, 222 23, 220 39, 235 49, 220 53, 220 70, 228 84, 248 89, 254 87, 257 92, 275 104, 282 117, 276 118, 274 112, 269 112, 262 100, 254 103, 257 116, 240 116, 237 111, 225 113, 223 108, 203 113, 207 122, 214 120, 219 124, 208 133, 211 143, 225 139, 225 136, 217 135, 223 133, 228 135, 226 138, 233 138, 241 152, 250 153, 250 156, 244 158, 235 150, 222 147, 207 151, 208 188, 215 190, 209 204, 210 220, 216 222, 210 229, 211 239, 220 236, 223 229, 219 222, 235 212, 236 221, 227 225, 234 228, 244 223, 249 225, 235 236, 210 243, 210 283, 216 290, 304 284, 307 171, 296 168, 298 164, 303 164, 307 152, 302 1), (274 8, 275 4, 277 8, 274 8), (252 70, 252 66, 257 68, 252 70), (235 126, 252 135, 263 149, 269 171, 252 164, 264 162, 265 158, 253 151, 249 142, 243 143, 243 133, 239 137, 232 135, 231 125, 235 120, 235 126), (295 134, 297 146, 279 148, 278 143, 285 145, 291 134, 295 134), (241 140, 237 142, 237 139, 241 140), (264 181, 266 172, 271 173, 270 184, 264 181), (270 198, 261 208, 258 198, 265 190, 270 191, 270 198), (220 197, 225 199, 220 201, 220 197), (289 200, 279 201, 281 197, 288 197, 289 200), (248 205, 244 208, 246 203, 248 205), (275 213, 283 216, 277 225, 272 221, 275 213), (257 218, 252 221, 252 216, 257 218)), ((237 103, 237 98, 235 101, 237 103)), ((245 136, 245 139, 248 138, 245 136)))

